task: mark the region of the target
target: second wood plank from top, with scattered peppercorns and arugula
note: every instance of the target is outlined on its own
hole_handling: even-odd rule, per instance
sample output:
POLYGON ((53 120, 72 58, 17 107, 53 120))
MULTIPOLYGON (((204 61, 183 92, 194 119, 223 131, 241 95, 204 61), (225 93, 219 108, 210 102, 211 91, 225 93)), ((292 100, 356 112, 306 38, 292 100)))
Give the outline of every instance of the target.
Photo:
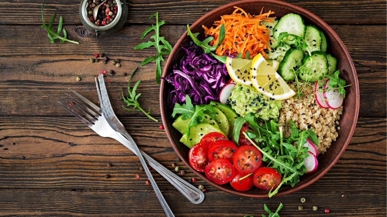
MULTIPOLYGON (((332 26, 346 44, 355 68, 357 70, 360 84, 360 116, 365 117, 385 117, 386 115, 386 43, 382 40, 371 44, 365 44, 361 40, 353 38, 376 37, 385 38, 386 26, 332 26), (370 110, 370 107, 373 109, 370 110)), ((17 32, 31 32, 35 27, 12 26, 12 31, 7 32, 8 36, 0 35, 0 115, 58 115, 63 113, 61 107, 56 106, 56 102, 62 97, 67 88, 73 88, 93 102, 98 102, 94 88, 94 77, 103 69, 115 70, 115 75, 107 74, 110 80, 108 92, 111 94, 111 102, 116 114, 142 115, 140 113, 128 113, 122 108, 123 102, 119 100, 121 86, 127 86, 127 75, 139 66, 139 63, 146 57, 154 55, 154 49, 134 51, 132 48, 141 42, 139 36, 142 30, 133 26, 124 27, 118 32, 114 40, 83 38, 84 41, 78 46, 72 43, 51 44, 48 40, 39 42, 39 38, 45 38, 44 31, 39 32, 39 36, 30 39, 18 38, 17 32), (40 35, 41 34, 41 35, 40 35), (130 38, 129 41, 126 41, 130 38), (124 41, 124 42, 123 42, 124 41), (7 50, 7 43, 19 44, 12 53, 7 50), (95 45, 100 42, 107 46, 95 45), (114 51, 112 51, 112 49, 114 51), (112 59, 122 60, 121 68, 116 68, 111 64, 104 65, 101 61, 90 63, 89 58, 95 52, 105 53, 112 59), (25 55, 31 53, 33 55, 25 55), (77 82, 75 78, 80 76, 82 81, 77 82), (44 85, 43 85, 44 84, 44 85), (33 90, 33 91, 32 91, 33 90), (15 101, 18 98, 28 98, 23 105, 15 101)), ((75 29, 75 26, 68 27, 75 29)), ((0 26, 0 32, 5 30, 5 26, 0 26)), ((183 34, 185 27, 165 26, 162 29, 164 35, 173 45, 178 37, 183 34), (178 32, 168 34, 168 32, 178 32)), ((22 34, 24 35, 24 34, 22 34)), ((47 38, 48 39, 48 38, 47 38)), ((82 38, 78 38, 82 39, 82 38)), ((79 41, 79 40, 78 40, 79 41)), ((134 81, 141 79, 139 93, 140 104, 144 108, 151 108, 152 115, 159 116, 159 85, 154 80, 153 63, 140 66, 134 81)))

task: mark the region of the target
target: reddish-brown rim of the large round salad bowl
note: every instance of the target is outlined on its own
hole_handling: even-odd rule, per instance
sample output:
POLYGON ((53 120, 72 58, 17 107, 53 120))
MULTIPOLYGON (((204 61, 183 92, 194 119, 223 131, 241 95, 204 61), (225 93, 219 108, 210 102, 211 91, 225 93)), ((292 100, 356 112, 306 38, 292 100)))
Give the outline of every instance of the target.
MULTIPOLYGON (((237 6, 237 5, 240 5, 240 4, 243 4, 243 3, 275 3, 277 5, 282 5, 284 7, 295 8, 295 10, 299 10, 299 11, 303 12, 304 14, 307 14, 311 19, 316 20, 320 25, 324 26, 326 29, 329 29, 329 31, 332 33, 332 36, 334 37, 334 39, 336 39, 336 41, 338 42, 340 48, 342 49, 345 58, 350 60, 349 61, 349 67, 351 69, 351 74, 354 77, 354 82, 352 84, 354 86, 354 93, 353 94, 356 97, 356 102, 355 102, 356 106, 355 106, 354 113, 353 113, 354 117, 353 117, 353 122, 351 124, 351 129, 349 131, 349 134, 347 135, 347 139, 346 139, 344 145, 341 147, 339 153, 337 153, 337 155, 335 156, 334 160, 331 161, 328 164, 328 166, 325 167, 316 177, 312 178, 311 180, 309 180, 306 183, 303 183, 301 185, 297 185, 296 184, 294 187, 290 188, 289 190, 286 190, 286 191, 283 191, 283 192, 278 192, 278 193, 276 193, 276 195, 273 196, 273 197, 277 197, 277 196, 286 195, 288 193, 296 192, 298 190, 301 190, 302 188, 305 188, 308 185, 311 185, 312 183, 314 183, 315 181, 320 179, 322 176, 324 176, 334 166, 334 164, 336 164, 336 162, 340 159, 341 155, 344 153, 346 147, 348 146, 348 144, 350 142, 350 139, 353 136, 354 129, 356 127, 356 122, 357 122, 358 115, 359 115, 359 106, 360 106, 359 83, 358 83, 358 78, 357 78, 357 74, 356 74, 356 70, 355 70, 352 58, 349 55, 348 50, 347 50, 347 48, 344 45, 344 42, 341 41, 340 37, 336 34, 336 32, 324 20, 320 19, 317 15, 313 14, 312 12, 310 12, 310 11, 304 9, 304 8, 301 8, 301 7, 297 6, 297 5, 294 5, 294 4, 291 4, 291 3, 288 3, 288 2, 283 2, 283 1, 279 1, 279 0, 240 0, 240 1, 236 1, 236 2, 231 2, 231 3, 228 3, 228 4, 222 5, 220 7, 217 7, 214 10, 211 10, 210 12, 207 12, 202 17, 200 17, 198 20, 196 20, 190 26, 190 29, 195 28, 198 24, 200 24, 200 22, 202 22, 202 20, 206 19, 211 14, 214 14, 216 12, 224 10, 225 8, 237 6)), ((176 42, 176 44, 181 44, 181 42, 183 41, 183 39, 185 37, 187 37, 187 30, 180 37, 180 39, 176 42)), ((169 68, 168 66, 171 64, 171 61, 172 61, 171 57, 175 56, 175 53, 176 53, 176 51, 178 49, 176 44, 175 44, 175 46, 173 47, 171 53, 168 56, 168 60, 166 61, 166 64, 164 66, 162 77, 165 77, 167 75, 167 73, 168 73, 167 69, 169 68)), ((160 102, 161 120, 163 121, 163 125, 164 126, 166 126, 166 112, 167 112, 167 111, 164 111, 164 107, 163 107, 163 95, 164 95, 164 86, 165 85, 166 85, 165 84, 165 80, 161 79, 160 93, 159 93, 159 102, 160 102)), ((202 180, 206 181, 210 185, 212 185, 212 186, 214 186, 214 187, 216 187, 216 188, 218 188, 218 189, 220 189, 220 190, 222 190, 224 192, 228 192, 228 193, 231 193, 231 194, 234 194, 234 195, 243 196, 243 197, 253 197, 253 198, 267 198, 267 197, 269 197, 268 194, 264 194, 264 195, 262 195, 262 194, 249 194, 249 193, 244 193, 244 192, 240 192, 240 191, 237 191, 237 190, 230 190, 229 188, 224 188, 223 185, 218 185, 218 184, 214 183, 213 181, 209 180, 205 175, 203 175, 199 171, 196 171, 194 168, 192 168, 190 163, 185 160, 185 157, 183 157, 182 153, 180 153, 180 151, 176 147, 176 144, 171 139, 171 133, 170 133, 168 127, 164 127, 164 130, 165 130, 165 132, 167 134, 168 140, 170 141, 170 143, 171 143, 173 149, 175 150, 176 154, 178 155, 178 157, 183 161, 183 163, 185 165, 188 166, 188 168, 190 168, 190 170, 192 170, 197 176, 202 178, 202 180)))

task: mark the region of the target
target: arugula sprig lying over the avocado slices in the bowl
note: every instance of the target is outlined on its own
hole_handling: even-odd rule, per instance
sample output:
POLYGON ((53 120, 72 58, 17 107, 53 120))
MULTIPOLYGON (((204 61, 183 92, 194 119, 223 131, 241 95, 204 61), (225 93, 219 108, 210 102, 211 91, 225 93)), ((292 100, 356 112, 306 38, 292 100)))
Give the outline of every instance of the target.
POLYGON ((191 144, 191 141, 188 139, 190 136, 191 127, 196 127, 199 121, 204 120, 204 112, 208 111, 209 115, 214 118, 216 116, 216 112, 212 105, 192 105, 191 98, 187 94, 185 95, 185 103, 180 105, 179 103, 175 103, 175 107, 173 108, 172 117, 175 117, 176 114, 182 114, 182 120, 187 120, 191 117, 190 122, 187 124, 187 130, 185 131, 185 135, 187 136, 187 142, 190 148, 194 145, 191 144))

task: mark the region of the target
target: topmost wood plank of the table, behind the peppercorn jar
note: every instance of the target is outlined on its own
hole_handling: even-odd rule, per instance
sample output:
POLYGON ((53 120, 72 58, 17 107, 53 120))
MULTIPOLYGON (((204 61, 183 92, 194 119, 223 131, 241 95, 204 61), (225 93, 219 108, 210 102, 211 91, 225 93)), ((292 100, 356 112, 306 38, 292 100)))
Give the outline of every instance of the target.
MULTIPOLYGON (((134 0, 130 1, 127 24, 150 24, 148 18, 159 12, 160 19, 167 24, 192 24, 202 15, 232 1, 214 0, 211 2, 200 0, 134 0)), ((288 0, 319 16, 328 24, 369 24, 386 23, 386 2, 382 0, 329 0, 324 4, 316 1, 288 0)), ((41 2, 15 0, 3 2, 0 10, 13 8, 7 13, 0 14, 0 24, 40 25, 41 2)), ((79 1, 52 0, 46 2, 45 19, 50 20, 53 13, 63 16, 65 24, 80 24, 79 1)))

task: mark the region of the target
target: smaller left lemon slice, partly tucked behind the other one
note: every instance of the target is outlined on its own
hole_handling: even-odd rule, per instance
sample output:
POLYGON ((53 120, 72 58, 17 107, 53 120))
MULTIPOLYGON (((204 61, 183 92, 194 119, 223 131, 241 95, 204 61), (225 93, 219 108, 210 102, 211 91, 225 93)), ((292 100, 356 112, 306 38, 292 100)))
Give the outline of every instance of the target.
POLYGON ((230 77, 238 84, 252 86, 250 81, 251 59, 226 58, 226 68, 230 77))

